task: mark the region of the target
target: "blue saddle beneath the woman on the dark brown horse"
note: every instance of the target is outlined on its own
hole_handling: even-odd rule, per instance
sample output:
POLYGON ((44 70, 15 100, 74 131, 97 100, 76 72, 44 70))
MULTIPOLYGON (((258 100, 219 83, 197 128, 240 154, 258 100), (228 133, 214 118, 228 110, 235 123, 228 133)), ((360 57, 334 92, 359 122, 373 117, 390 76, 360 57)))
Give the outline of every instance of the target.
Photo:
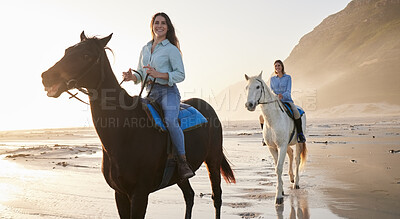
MULTIPOLYGON (((161 106, 150 98, 143 98, 142 107, 148 118, 153 122, 154 128, 161 132, 166 132, 167 128, 161 106)), ((178 122, 182 131, 185 132, 196 129, 208 121, 196 108, 189 104, 181 103, 178 122)))

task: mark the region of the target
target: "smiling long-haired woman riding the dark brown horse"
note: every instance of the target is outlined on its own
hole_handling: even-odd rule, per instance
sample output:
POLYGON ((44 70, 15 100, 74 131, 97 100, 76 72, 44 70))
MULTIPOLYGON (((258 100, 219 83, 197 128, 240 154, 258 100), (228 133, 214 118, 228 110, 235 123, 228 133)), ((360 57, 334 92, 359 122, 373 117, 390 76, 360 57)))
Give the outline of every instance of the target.
POLYGON ((140 53, 138 73, 132 74, 129 69, 123 73, 124 81, 133 80, 138 84, 148 75, 147 91, 151 91, 150 98, 162 107, 165 124, 178 153, 179 176, 190 178, 194 173, 187 164, 184 135, 178 123, 181 96, 176 83, 185 79, 179 41, 171 19, 165 13, 155 14, 150 27, 153 39, 140 53))

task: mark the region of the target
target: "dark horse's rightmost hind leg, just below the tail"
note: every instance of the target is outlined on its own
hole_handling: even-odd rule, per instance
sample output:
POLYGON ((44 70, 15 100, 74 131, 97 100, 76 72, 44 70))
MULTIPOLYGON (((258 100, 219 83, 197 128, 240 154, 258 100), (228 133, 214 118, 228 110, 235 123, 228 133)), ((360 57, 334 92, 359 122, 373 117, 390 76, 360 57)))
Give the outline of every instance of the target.
POLYGON ((212 188, 212 199, 214 201, 215 208, 215 218, 221 218, 221 206, 222 206, 222 189, 221 189, 221 162, 216 164, 217 162, 206 161, 206 166, 208 169, 208 176, 211 181, 212 188))

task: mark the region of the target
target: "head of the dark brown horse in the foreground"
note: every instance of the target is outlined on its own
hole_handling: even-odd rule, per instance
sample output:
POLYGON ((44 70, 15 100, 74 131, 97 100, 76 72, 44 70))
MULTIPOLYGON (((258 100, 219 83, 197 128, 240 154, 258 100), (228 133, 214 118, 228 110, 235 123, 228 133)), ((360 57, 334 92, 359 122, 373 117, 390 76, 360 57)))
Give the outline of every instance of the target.
POLYGON ((67 48, 64 56, 42 73, 47 96, 57 98, 73 88, 95 89, 104 79, 103 75, 94 74, 101 72, 103 60, 106 58, 104 49, 111 36, 112 34, 105 38, 87 38, 82 32, 81 41, 67 48))

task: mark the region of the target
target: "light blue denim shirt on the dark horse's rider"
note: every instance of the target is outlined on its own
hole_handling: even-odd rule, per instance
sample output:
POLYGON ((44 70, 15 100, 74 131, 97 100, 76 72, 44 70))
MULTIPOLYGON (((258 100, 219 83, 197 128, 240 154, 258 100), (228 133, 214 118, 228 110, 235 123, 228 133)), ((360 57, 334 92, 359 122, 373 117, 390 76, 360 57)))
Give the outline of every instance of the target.
MULTIPOLYGON (((170 43, 168 39, 157 44, 153 53, 151 53, 152 45, 153 41, 148 42, 140 52, 137 71, 140 72, 141 77, 139 74, 134 73, 137 78, 136 84, 145 79, 146 69, 143 67, 148 64, 158 72, 168 73, 168 80, 157 78, 157 83, 173 86, 176 83, 182 82, 185 79, 185 69, 179 49, 170 43)), ((149 76, 147 81, 153 81, 153 79, 149 76)))

